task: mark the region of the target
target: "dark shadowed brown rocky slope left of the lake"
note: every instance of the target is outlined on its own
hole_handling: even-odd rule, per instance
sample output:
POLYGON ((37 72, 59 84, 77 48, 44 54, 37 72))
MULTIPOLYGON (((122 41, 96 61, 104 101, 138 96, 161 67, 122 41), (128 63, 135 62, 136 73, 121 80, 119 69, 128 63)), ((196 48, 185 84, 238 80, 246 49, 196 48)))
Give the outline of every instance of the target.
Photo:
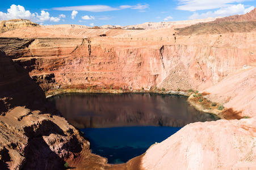
POLYGON ((0 68, 1 169, 64 169, 65 162, 89 160, 94 168, 106 164, 90 154, 90 143, 45 99, 27 71, 2 51, 0 68))

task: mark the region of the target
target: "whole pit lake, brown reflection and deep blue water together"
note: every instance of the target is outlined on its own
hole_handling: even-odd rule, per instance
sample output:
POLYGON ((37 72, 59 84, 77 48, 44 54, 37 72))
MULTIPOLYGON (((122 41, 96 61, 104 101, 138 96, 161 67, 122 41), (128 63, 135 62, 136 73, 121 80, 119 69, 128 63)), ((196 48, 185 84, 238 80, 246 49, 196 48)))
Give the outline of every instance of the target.
POLYGON ((108 163, 125 163, 192 122, 218 120, 187 97, 158 94, 66 94, 50 101, 108 163))

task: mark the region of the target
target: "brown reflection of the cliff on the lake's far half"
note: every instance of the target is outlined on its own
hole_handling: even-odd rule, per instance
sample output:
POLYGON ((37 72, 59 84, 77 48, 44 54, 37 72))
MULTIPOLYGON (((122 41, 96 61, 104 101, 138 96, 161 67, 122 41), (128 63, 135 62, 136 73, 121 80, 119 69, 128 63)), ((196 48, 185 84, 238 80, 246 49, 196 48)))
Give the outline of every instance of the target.
POLYGON ((217 120, 196 111, 184 96, 158 94, 66 94, 52 101, 79 129, 122 126, 182 127, 192 122, 217 120))

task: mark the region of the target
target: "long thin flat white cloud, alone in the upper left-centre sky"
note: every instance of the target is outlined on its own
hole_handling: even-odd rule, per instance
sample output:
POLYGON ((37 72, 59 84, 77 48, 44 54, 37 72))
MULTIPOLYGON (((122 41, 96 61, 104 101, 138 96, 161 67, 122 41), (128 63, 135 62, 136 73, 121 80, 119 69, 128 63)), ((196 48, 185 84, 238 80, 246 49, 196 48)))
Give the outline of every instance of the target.
POLYGON ((53 10, 105 12, 105 11, 116 11, 116 10, 119 10, 119 8, 113 8, 107 5, 84 5, 84 6, 54 7, 53 10))

